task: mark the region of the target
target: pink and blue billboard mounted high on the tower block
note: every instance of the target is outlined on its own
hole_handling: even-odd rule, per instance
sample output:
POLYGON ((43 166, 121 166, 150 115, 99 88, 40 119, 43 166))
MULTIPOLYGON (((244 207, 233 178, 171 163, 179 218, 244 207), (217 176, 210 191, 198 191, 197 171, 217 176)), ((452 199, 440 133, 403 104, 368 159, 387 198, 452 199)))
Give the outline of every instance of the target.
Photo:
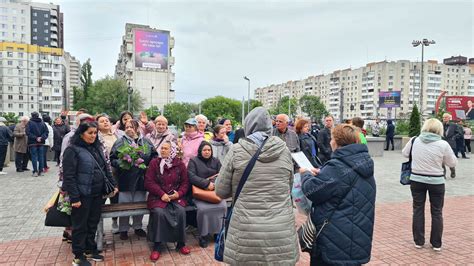
POLYGON ((169 32, 135 29, 135 67, 168 69, 169 32))

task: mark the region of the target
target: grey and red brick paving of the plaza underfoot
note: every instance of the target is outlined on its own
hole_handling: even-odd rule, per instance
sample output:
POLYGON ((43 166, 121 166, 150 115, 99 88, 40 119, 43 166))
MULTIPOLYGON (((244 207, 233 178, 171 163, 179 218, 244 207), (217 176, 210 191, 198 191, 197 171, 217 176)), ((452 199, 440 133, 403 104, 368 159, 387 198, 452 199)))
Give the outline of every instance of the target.
MULTIPOLYGON (((459 159, 457 177, 446 182, 443 250, 434 252, 429 244, 415 249, 411 236, 411 196, 408 186, 398 182, 400 164, 406 159, 400 151, 376 157, 376 222, 372 260, 369 265, 474 265, 474 159, 459 159)), ((53 166, 51 166, 53 165, 53 166)), ((43 206, 56 191, 57 168, 42 177, 14 172, 13 163, 0 176, 0 265, 71 265, 69 244, 61 241, 62 230, 45 227, 43 206)), ((426 208, 426 235, 429 237, 429 206, 426 208)), ((146 224, 148 217, 145 216, 146 224)), ((305 217, 297 215, 301 224, 305 217)), ((130 234, 122 241, 110 233, 106 220, 105 259, 96 265, 154 265, 149 259, 149 243, 130 234)), ((196 230, 188 233, 192 253, 183 256, 173 245, 162 253, 156 265, 217 265, 213 246, 202 249, 196 230)), ((427 240, 427 243, 429 240, 427 240)), ((307 253, 298 265, 309 265, 307 253)))

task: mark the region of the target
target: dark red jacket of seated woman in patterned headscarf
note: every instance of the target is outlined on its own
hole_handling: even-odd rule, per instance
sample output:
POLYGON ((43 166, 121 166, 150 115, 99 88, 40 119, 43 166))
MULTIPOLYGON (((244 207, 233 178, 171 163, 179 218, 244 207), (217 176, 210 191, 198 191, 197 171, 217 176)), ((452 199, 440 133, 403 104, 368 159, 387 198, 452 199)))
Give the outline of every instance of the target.
POLYGON ((145 174, 145 189, 149 192, 147 206, 149 209, 166 208, 167 202, 161 197, 167 192, 176 190, 179 199, 175 200, 179 205, 185 207, 186 194, 189 189, 188 171, 181 159, 175 158, 171 168, 165 165, 163 175, 160 174, 161 158, 154 158, 145 174))

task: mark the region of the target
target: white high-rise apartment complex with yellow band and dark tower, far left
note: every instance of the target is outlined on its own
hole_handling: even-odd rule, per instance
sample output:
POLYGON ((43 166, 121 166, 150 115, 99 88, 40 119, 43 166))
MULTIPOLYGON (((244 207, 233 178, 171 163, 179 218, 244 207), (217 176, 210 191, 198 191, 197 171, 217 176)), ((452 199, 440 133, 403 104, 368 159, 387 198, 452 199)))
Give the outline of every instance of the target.
POLYGON ((0 1, 0 112, 59 116, 70 109, 70 84, 79 62, 64 50, 58 5, 0 1), (72 66, 72 70, 69 67, 72 66))

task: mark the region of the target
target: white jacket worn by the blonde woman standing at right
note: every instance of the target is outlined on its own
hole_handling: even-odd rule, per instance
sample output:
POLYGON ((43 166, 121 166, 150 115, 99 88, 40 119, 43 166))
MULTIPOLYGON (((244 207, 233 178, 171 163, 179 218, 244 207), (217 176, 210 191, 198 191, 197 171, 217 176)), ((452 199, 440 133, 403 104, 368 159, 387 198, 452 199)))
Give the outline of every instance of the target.
MULTIPOLYGON (((402 150, 403 156, 410 156, 411 146, 410 140, 402 150)), ((443 164, 448 167, 455 167, 457 164, 448 142, 437 134, 421 132, 413 143, 410 179, 425 184, 444 184, 443 164)))

